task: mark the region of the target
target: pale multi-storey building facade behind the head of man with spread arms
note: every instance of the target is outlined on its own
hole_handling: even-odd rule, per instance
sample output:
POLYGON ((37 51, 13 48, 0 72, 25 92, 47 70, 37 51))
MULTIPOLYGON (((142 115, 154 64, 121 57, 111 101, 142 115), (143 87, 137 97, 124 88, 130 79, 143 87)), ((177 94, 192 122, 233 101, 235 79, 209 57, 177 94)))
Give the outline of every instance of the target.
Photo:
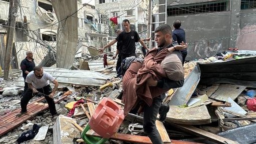
MULTIPOLYGON (((95 7, 98 11, 99 22, 108 20, 110 17, 117 17, 117 25, 109 26, 109 35, 116 36, 114 32, 122 29, 122 21, 128 19, 131 23, 131 29, 137 32, 147 30, 148 0, 95 0, 95 7), (102 21, 103 20, 103 21, 102 21)), ((141 34, 146 38, 147 31, 141 34)))

